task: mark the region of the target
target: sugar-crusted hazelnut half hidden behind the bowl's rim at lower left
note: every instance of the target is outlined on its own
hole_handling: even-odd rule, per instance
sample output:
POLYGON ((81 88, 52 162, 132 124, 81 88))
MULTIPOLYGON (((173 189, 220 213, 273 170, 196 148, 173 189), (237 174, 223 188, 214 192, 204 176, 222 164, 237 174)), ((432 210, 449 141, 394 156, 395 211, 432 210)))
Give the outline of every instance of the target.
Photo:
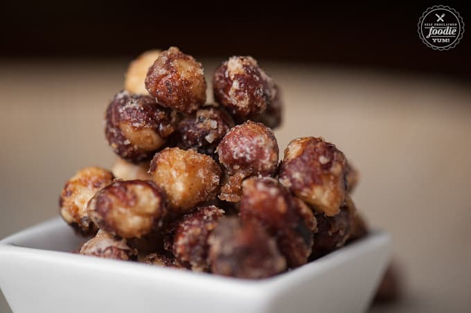
POLYGON ((137 260, 137 250, 130 248, 125 239, 116 238, 102 230, 83 244, 80 254, 125 261, 137 260))

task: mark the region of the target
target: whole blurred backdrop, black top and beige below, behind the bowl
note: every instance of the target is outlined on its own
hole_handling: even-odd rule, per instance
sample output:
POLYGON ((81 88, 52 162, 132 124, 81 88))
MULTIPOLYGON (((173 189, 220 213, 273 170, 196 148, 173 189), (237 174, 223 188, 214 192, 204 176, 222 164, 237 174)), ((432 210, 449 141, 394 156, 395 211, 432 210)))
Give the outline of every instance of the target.
POLYGON ((361 174, 357 206, 393 234, 402 296, 371 312, 470 312, 470 34, 425 46, 417 23, 435 4, 471 23, 463 3, 3 3, 0 238, 57 216, 79 168, 112 165, 103 112, 136 55, 179 46, 208 82, 230 55, 252 55, 283 90, 281 150, 306 135, 335 143, 361 174))

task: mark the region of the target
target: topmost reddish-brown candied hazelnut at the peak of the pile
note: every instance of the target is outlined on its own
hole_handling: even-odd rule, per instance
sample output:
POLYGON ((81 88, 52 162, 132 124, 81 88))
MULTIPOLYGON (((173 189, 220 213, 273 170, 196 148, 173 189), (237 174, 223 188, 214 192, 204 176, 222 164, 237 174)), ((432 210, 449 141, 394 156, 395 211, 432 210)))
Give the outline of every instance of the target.
POLYGON ((145 89, 164 107, 191 114, 206 102, 203 66, 178 48, 170 47, 150 67, 145 89))

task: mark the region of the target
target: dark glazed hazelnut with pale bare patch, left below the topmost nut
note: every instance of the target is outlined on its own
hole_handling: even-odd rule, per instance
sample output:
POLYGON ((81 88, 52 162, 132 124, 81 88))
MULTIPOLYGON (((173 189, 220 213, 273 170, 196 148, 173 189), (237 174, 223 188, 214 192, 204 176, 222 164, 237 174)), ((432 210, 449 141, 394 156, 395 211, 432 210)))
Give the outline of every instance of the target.
POLYGON ((175 114, 150 96, 121 91, 106 111, 105 135, 114 152, 126 161, 150 159, 177 126, 175 114))

